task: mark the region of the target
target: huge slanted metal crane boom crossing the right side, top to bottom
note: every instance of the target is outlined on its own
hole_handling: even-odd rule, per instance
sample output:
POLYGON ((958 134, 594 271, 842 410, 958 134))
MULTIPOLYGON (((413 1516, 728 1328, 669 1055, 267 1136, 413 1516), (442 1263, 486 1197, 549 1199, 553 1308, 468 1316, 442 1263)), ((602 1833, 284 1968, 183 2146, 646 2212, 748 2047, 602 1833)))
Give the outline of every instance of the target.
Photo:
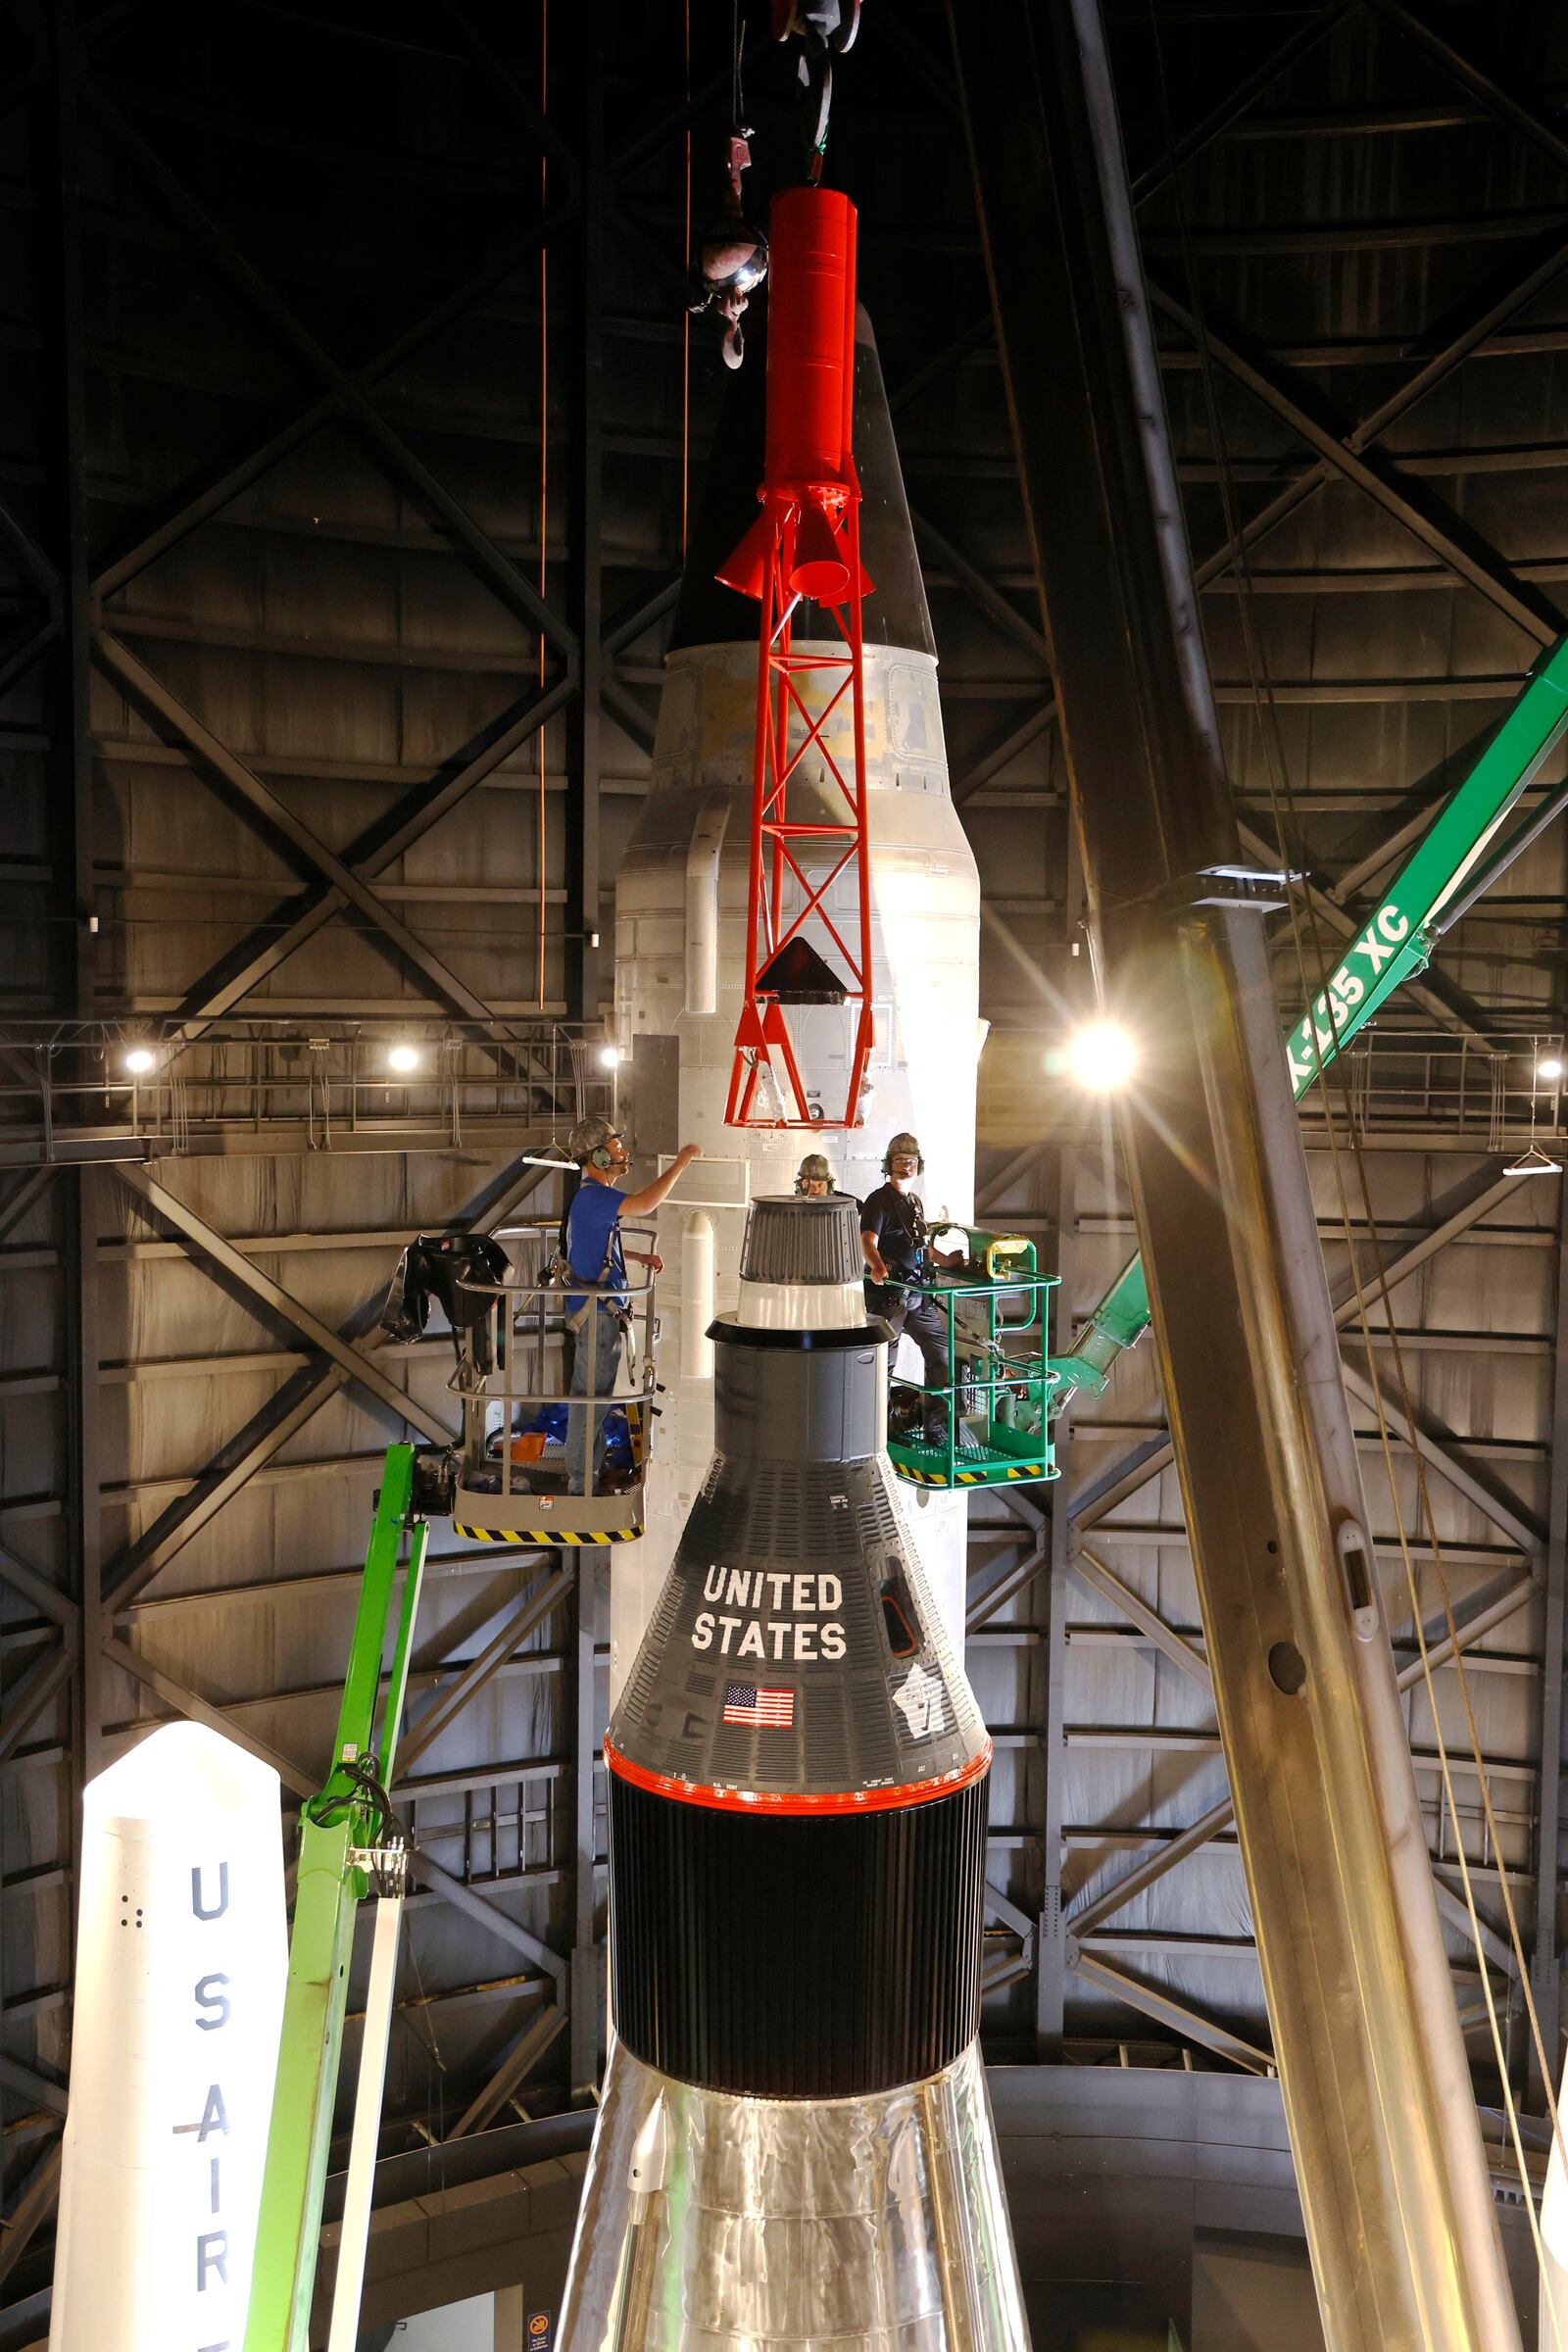
POLYGON ((1328 2352, 1516 2352, 1098 0, 947 0, 1328 2352))

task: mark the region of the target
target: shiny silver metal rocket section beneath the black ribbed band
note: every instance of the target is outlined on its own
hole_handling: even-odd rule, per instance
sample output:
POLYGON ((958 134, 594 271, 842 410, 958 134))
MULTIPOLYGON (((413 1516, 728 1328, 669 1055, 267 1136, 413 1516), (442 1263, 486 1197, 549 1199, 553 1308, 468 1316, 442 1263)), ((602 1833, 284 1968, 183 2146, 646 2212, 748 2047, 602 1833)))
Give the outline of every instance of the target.
POLYGON ((571 2260, 571 2347, 1027 2345, 973 2042, 832 2100, 698 2091, 616 2044, 571 2260))

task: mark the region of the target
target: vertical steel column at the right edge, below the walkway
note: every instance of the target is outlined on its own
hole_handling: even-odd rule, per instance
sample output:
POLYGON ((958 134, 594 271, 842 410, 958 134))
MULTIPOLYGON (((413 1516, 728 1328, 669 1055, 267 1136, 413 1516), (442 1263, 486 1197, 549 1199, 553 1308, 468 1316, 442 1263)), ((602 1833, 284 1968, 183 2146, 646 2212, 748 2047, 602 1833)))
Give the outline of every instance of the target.
MULTIPOLYGON (((1556 1933, 1559 1816, 1563 1806, 1563 1595, 1568 1588, 1568 1185, 1556 1204, 1556 1329, 1552 1364, 1552 1496, 1547 1503, 1547 1609, 1540 1675, 1540 1792, 1535 1799, 1535 1950, 1530 1994, 1552 2067, 1552 2093, 1563 2074, 1563 1959, 1556 1933)), ((1526 2034, 1528 2105, 1547 2112, 1535 2039, 1526 2034)))

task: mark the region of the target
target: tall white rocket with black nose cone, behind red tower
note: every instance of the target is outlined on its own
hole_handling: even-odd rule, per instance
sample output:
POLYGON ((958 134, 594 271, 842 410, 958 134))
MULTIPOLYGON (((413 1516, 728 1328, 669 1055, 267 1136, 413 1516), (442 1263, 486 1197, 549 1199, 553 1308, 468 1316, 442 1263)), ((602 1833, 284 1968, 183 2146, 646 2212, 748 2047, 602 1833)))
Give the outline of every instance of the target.
MULTIPOLYGON (((773 303, 790 268, 790 207, 827 200, 792 191, 773 214, 773 303)), ((832 198, 844 207, 842 198, 832 198)), ((849 209, 849 207, 844 207, 849 209)), ((853 216, 851 216, 853 219, 853 216)), ((853 287, 853 280, 851 280, 853 287)), ((748 967, 748 873, 759 666, 759 607, 722 586, 757 520, 766 463, 766 397, 783 313, 771 322, 769 379, 762 339, 731 379, 691 536, 658 710, 649 793, 616 880, 616 1044, 623 1061, 621 1117, 639 1157, 701 1143, 661 1218, 670 1272, 661 1287, 665 1397, 649 1470, 646 1534, 618 1552, 611 1576, 611 1700, 625 1684, 649 1611, 665 1581, 712 1454, 715 1348, 708 1327, 733 1308, 748 1202, 783 1192, 809 1148, 827 1152, 839 1190, 865 1197, 882 1183, 882 1155, 898 1129, 926 1150, 926 1211, 966 1221, 973 1202, 976 1068, 980 1056, 980 880, 947 790, 936 642, 910 529, 893 423, 863 310, 853 320, 853 468, 870 593, 863 604, 865 800, 875 1047, 860 1124, 820 1136, 726 1127, 743 976, 748 967), (670 1279, 677 1277, 677 1279, 670 1279)), ((849 336, 846 336, 849 341, 849 336)), ((795 649, 844 647, 813 607, 795 614, 795 649)), ((818 717, 837 673, 806 670, 795 691, 818 717)), ((797 717, 804 727, 804 720, 797 717)), ((823 727, 825 750, 849 764, 849 699, 823 727)), ((827 776, 802 779, 832 809, 827 776)), ((842 809, 839 809, 842 814, 842 809)), ((809 842, 797 842, 813 870, 809 842)), ((818 866, 837 854, 818 849, 818 866)), ((827 908, 849 934, 856 882, 846 875, 827 908)), ((806 1084, 823 1117, 842 1117, 853 1054, 844 1007, 792 1016, 806 1084)), ((905 1343, 907 1348, 907 1343, 905 1343)), ((914 1355, 907 1352, 907 1367, 914 1355)), ((919 1494, 912 1534, 938 1611, 961 1646, 966 1508, 957 1494, 919 1494)))

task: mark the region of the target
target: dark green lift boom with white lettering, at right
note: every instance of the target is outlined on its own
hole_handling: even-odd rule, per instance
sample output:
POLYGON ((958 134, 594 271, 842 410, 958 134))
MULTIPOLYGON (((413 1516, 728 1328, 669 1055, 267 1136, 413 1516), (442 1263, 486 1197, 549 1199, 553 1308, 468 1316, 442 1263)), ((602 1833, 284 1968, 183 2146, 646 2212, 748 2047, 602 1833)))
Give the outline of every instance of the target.
MULTIPOLYGON (((1568 802, 1568 786, 1486 861, 1488 844, 1552 746, 1568 729, 1568 637, 1535 666, 1519 701, 1502 720, 1462 783, 1443 802, 1420 847, 1399 870, 1382 903, 1359 924, 1326 990, 1286 1037, 1291 1089, 1300 1103, 1321 1070, 1345 1051, 1396 988, 1427 969, 1436 941, 1540 830, 1542 816, 1568 802), (1474 889, 1465 889, 1469 877, 1474 889)), ((1072 1355, 1051 1357, 1058 1383, 1051 1414, 1074 1395, 1098 1397, 1117 1357, 1150 1327, 1150 1287, 1143 1256, 1131 1258, 1079 1331, 1072 1355)))

